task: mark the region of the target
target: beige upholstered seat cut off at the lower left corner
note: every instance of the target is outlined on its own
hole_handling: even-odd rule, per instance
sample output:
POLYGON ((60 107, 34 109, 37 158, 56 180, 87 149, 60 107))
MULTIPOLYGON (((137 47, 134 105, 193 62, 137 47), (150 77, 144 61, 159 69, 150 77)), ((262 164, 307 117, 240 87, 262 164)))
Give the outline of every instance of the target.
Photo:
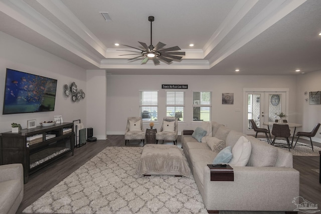
POLYGON ((16 213, 24 197, 21 163, 0 165, 0 213, 16 213))

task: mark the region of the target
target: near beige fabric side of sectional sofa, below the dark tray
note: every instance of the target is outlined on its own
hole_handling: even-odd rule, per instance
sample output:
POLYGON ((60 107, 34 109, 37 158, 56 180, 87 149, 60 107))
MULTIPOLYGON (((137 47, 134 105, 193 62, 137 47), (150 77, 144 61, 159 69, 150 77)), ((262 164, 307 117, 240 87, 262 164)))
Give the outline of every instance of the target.
POLYGON ((203 200, 208 210, 290 211, 299 196, 299 171, 291 167, 234 166, 234 181, 211 181, 204 167, 203 200), (271 206, 273 204, 273 206, 271 206))

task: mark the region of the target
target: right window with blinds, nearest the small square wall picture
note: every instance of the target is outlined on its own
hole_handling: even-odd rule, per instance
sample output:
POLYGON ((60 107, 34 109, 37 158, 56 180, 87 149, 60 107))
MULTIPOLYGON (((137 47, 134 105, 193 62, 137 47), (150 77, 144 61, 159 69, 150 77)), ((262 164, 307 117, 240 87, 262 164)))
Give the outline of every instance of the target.
POLYGON ((193 121, 211 121, 212 92, 193 92, 193 121))

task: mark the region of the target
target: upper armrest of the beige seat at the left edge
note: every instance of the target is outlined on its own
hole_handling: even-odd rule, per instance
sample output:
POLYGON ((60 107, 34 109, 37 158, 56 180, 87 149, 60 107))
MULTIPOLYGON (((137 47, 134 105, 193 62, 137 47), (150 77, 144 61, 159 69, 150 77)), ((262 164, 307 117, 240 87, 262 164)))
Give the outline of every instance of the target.
POLYGON ((0 182, 19 179, 24 181, 24 168, 21 163, 0 165, 0 182))

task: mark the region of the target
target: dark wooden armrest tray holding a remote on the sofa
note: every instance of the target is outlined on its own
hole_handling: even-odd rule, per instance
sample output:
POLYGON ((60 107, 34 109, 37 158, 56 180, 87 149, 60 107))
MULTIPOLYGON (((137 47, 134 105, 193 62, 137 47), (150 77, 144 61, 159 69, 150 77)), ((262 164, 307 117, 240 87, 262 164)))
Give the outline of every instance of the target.
POLYGON ((211 181, 234 181, 233 168, 227 164, 226 166, 207 165, 211 172, 211 181))

